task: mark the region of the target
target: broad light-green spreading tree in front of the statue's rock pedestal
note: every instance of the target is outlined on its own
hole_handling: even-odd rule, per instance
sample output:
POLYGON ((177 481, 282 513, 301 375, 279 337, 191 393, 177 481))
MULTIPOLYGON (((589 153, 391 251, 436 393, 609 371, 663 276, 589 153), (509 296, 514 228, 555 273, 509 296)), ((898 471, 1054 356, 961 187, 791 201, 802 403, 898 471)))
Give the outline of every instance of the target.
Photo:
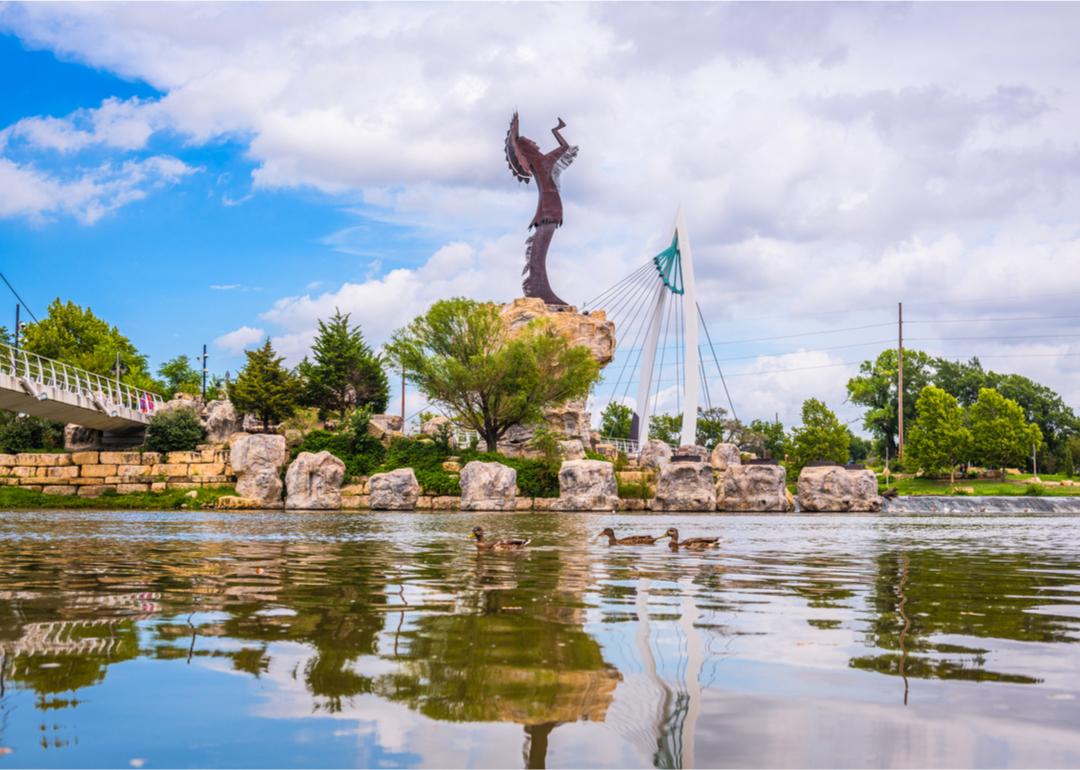
POLYGON ((399 329, 387 354, 429 401, 483 436, 488 451, 515 424, 538 423, 545 408, 584 397, 599 367, 584 347, 542 321, 508 334, 491 302, 435 302, 399 329))

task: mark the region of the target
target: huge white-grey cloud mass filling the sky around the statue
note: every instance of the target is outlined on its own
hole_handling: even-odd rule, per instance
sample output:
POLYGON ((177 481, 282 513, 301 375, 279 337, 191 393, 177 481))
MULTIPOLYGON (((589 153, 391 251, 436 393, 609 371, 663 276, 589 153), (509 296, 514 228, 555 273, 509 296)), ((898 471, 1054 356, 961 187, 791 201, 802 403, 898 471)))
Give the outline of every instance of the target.
MULTIPOLYGON (((518 294, 535 198, 510 179, 502 136, 518 107, 548 146, 562 116, 581 154, 550 257, 561 294, 581 301, 642 264, 681 203, 715 335, 851 329, 727 347, 751 362, 802 356, 789 369, 826 355, 788 374, 734 363, 750 372, 732 380, 747 418, 808 395, 842 404, 848 370, 834 364, 875 349, 820 349, 878 339, 862 327, 888 323, 897 300, 933 352, 1002 356, 1076 402, 1067 346, 953 339, 975 335, 930 322, 1070 314, 1078 22, 1069 4, 5 5, 0 28, 164 96, 27 118, 0 145, 238 139, 255 194, 314 188, 446 244, 402 268, 357 245, 364 221, 327 233, 373 274, 267 308, 259 323, 296 360, 336 307, 379 342, 440 297, 518 294), (1045 357, 1004 357, 1022 354, 1045 357)), ((22 189, 0 188, 0 214, 69 205, 91 220, 89 204, 50 203, 48 177, 4 163, 0 179, 18 173, 22 189)), ((1014 323, 987 322, 986 336, 1040 330, 1014 323)))

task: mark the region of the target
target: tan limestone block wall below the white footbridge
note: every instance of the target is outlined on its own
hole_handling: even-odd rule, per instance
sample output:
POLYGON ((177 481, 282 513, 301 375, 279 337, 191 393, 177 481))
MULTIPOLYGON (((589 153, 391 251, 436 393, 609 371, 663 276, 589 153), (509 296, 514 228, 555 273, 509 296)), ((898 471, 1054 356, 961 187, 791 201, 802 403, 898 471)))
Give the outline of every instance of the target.
POLYGON ((219 486, 237 481, 227 447, 197 451, 73 451, 0 455, 0 485, 96 497, 219 486))

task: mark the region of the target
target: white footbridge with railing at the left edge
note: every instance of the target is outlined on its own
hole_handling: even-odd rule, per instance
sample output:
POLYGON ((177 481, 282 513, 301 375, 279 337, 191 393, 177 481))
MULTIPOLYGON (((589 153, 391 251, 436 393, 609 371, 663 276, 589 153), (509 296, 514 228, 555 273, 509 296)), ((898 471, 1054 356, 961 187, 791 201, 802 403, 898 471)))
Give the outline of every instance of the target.
POLYGON ((163 403, 112 377, 0 343, 0 409, 123 431, 146 427, 163 403))

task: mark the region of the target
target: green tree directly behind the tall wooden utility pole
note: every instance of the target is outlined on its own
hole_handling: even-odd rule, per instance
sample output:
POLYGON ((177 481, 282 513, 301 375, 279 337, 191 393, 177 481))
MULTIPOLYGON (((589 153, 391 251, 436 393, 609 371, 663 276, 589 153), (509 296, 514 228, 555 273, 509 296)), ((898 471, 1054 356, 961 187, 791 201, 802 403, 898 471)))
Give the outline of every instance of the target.
MULTIPOLYGON (((863 427, 881 440, 889 454, 896 455, 896 375, 900 370, 895 349, 881 351, 870 362, 864 361, 860 375, 848 380, 848 397, 853 404, 866 407, 863 427)), ((915 402, 922 389, 930 384, 933 359, 920 350, 904 351, 904 422, 915 422, 915 402)))

